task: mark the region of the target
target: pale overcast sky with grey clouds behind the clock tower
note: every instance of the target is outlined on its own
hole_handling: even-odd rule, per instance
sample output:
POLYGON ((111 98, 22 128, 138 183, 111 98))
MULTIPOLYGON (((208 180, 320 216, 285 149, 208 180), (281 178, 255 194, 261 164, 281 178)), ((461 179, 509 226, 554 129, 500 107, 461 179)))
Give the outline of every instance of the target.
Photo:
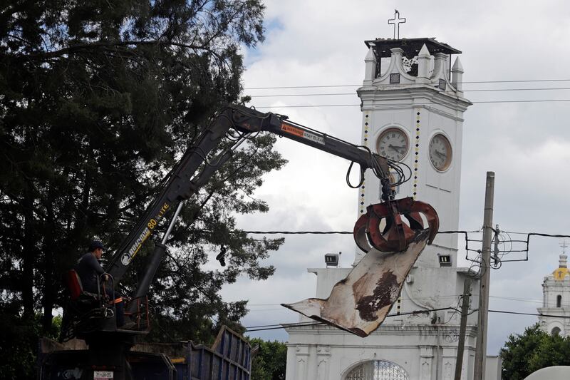
MULTIPOLYGON (((364 75, 367 48, 363 41, 391 38, 393 29, 388 19, 398 8, 400 17, 406 19, 400 37, 435 37, 459 49, 463 52, 464 81, 477 82, 464 85, 465 97, 474 104, 465 113, 463 125, 459 229, 478 230, 482 226, 485 173, 492 170, 496 173, 494 224, 501 230, 570 234, 570 102, 544 102, 570 99, 569 2, 534 1, 523 6, 520 1, 497 0, 468 4, 299 0, 265 4, 266 41, 245 52, 244 93, 252 96, 252 105, 359 143, 361 111, 356 88, 364 75), (564 79, 569 81, 560 81, 564 79), (480 83, 525 80, 536 82, 480 83), (353 86, 253 89, 331 85, 353 86), (520 91, 528 88, 543 90, 520 91), (515 89, 518 91, 512 91, 515 89), (348 95, 284 96, 309 93, 348 95), (280 97, 262 97, 269 95, 280 97), (477 103, 522 100, 540 102, 477 103)), ((280 139, 276 148, 289 164, 268 175, 257 192, 271 210, 264 215, 239 217, 239 227, 352 230, 357 192, 345 183, 348 163, 286 139, 280 139)), ((536 312, 541 306, 544 276, 558 267, 561 242, 532 237, 527 262, 505 262, 494 270, 490 309, 536 312)), ((323 255, 339 251, 343 252, 341 266, 351 265, 355 252, 351 235, 289 235, 284 246, 266 260, 276 266, 273 277, 264 282, 239 279, 224 288, 224 297, 249 299, 251 312, 242 321, 246 327, 297 322, 298 314, 279 304, 314 297, 316 277, 306 268, 323 267, 323 255)), ((465 257, 465 252, 460 251, 460 256, 465 257)), ((504 258, 519 257, 512 253, 504 258)), ((459 264, 468 266, 470 262, 460 259, 459 264)), ((523 332, 534 322, 537 317, 489 314, 488 354, 497 354, 509 334, 523 332)), ((279 329, 252 336, 287 339, 279 329)))

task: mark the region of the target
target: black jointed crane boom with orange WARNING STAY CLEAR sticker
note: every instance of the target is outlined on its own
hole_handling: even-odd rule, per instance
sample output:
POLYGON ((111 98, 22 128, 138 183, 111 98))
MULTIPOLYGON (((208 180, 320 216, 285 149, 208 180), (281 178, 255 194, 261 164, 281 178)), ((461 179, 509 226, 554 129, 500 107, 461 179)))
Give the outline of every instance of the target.
POLYGON ((291 140, 296 140, 299 143, 346 158, 354 163, 358 163, 361 166, 361 171, 374 168, 375 171, 381 173, 381 179, 386 180, 388 178, 385 174, 388 173, 386 160, 379 155, 371 153, 369 150, 358 148, 356 145, 346 141, 338 140, 332 136, 293 123, 287 120, 287 117, 284 115, 261 113, 244 106, 229 106, 214 118, 212 123, 199 136, 197 143, 187 150, 180 163, 170 173, 160 194, 155 197, 155 200, 147 208, 145 215, 138 222, 138 225, 133 228, 120 248, 115 252, 115 255, 113 255, 107 272, 113 275, 115 281, 118 282, 123 277, 131 260, 140 250, 142 243, 152 235, 152 232, 161 220, 169 215, 170 211, 182 200, 188 199, 202 185, 207 183, 215 171, 232 156, 233 150, 237 148, 237 145, 248 137, 247 134, 259 131, 276 133, 291 140), (242 133, 242 138, 237 140, 237 143, 232 148, 220 153, 217 158, 209 160, 207 165, 203 165, 209 153, 217 149, 222 138, 232 128, 242 133), (203 166, 202 171, 197 173, 201 166, 203 166))

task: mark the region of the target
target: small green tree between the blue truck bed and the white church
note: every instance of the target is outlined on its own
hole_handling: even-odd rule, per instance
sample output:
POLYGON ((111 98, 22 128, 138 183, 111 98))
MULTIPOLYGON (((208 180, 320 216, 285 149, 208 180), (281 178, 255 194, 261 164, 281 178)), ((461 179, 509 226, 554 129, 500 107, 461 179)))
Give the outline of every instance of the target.
POLYGON ((287 346, 260 338, 249 339, 249 344, 259 347, 252 361, 252 380, 285 380, 287 346))

